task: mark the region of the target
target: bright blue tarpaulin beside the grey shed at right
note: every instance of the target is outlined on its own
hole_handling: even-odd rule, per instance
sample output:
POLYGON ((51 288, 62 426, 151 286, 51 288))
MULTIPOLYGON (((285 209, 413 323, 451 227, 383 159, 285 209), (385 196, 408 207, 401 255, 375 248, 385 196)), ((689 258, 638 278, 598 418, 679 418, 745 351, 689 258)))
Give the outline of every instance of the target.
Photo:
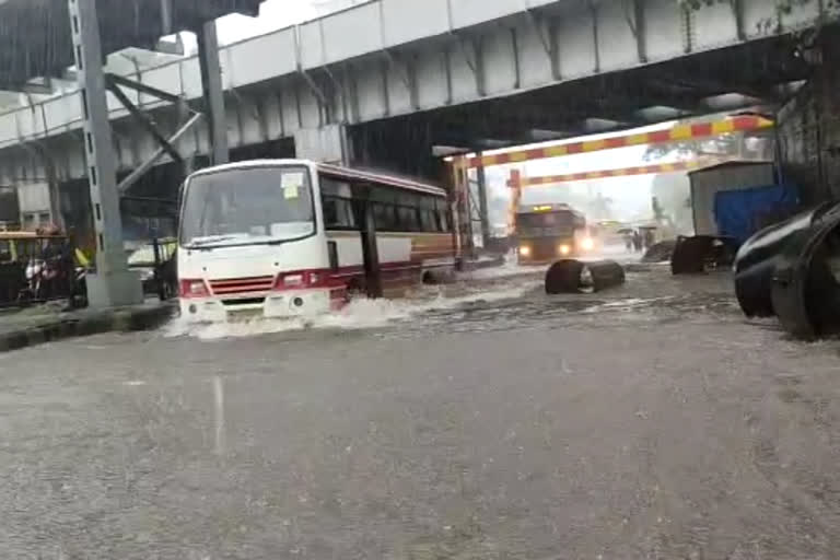
POLYGON ((792 185, 769 185, 742 190, 721 190, 714 195, 718 233, 740 243, 767 225, 796 211, 798 196, 792 185))

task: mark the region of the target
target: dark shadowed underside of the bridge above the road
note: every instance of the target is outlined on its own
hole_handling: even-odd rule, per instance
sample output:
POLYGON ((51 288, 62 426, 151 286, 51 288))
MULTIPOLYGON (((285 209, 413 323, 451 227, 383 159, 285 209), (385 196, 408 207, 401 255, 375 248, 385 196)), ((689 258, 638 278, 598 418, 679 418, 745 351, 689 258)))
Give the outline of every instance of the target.
POLYGON ((755 109, 773 114, 812 69, 775 37, 350 128, 364 165, 438 177, 451 150, 481 151, 755 109))

